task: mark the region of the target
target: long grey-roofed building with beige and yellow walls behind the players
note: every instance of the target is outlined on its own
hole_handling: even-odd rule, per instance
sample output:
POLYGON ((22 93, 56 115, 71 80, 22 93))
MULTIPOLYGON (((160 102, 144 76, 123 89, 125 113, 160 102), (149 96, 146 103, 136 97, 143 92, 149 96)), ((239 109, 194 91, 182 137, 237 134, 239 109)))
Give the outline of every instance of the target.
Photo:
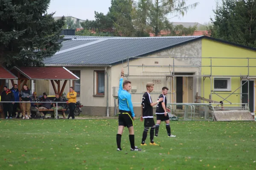
MULTIPOLYGON (((78 100, 84 105, 82 113, 87 115, 113 115, 122 68, 127 74, 125 79, 132 82, 132 101, 137 103, 134 104, 135 114, 140 115, 141 98, 146 91, 147 82, 155 84, 154 92, 151 94, 152 100, 157 100, 162 87, 167 86, 169 103, 192 103, 195 102, 197 92, 199 96, 204 94, 208 98, 212 90, 227 93, 239 88, 244 81, 244 79, 240 81, 240 75, 247 75, 245 73, 247 68, 231 68, 232 65, 244 63, 244 61, 234 62, 231 57, 256 58, 255 48, 207 36, 65 36, 64 39, 67 41, 62 42, 61 50, 51 58, 45 59, 44 63, 51 67, 65 67, 80 77, 79 80, 69 81, 64 92, 69 91, 68 86, 73 86, 79 94, 78 100), (219 58, 218 61, 212 59, 212 69, 209 67, 210 59, 207 57, 219 58), (214 67, 216 65, 227 67, 214 67), (209 70, 212 70, 212 85, 204 76, 209 75, 209 70), (231 78, 223 79, 222 75, 231 78)), ((255 64, 256 61, 251 59, 250 65, 255 64)), ((256 78, 253 76, 255 72, 256 68, 250 68, 250 77, 256 78)), ((244 78, 247 79, 247 76, 244 78)), ((252 80, 254 83, 255 80, 252 80)), ((252 89, 250 93, 255 94, 255 88, 252 89)), ((238 90, 237 93, 241 91, 246 89, 238 90)), ((52 94, 54 91, 49 85, 49 95, 52 94)), ((234 94, 229 100, 233 103, 241 103, 241 98, 241 95, 234 94)), ((212 100, 223 99, 212 94, 212 100)), ((250 101, 255 103, 255 96, 250 101)))

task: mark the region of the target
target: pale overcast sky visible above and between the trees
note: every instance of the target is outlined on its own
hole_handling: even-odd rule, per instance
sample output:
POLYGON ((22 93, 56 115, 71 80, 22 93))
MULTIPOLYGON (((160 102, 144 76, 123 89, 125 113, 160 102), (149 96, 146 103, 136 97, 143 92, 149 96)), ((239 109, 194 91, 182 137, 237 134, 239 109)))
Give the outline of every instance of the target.
MULTIPOLYGON (((214 17, 216 0, 187 0, 187 4, 199 2, 195 9, 189 9, 184 17, 172 18, 172 22, 197 22, 204 24, 214 17)), ((56 12, 54 16, 73 16, 81 20, 94 20, 94 11, 106 14, 111 0, 51 0, 48 13, 56 12)))

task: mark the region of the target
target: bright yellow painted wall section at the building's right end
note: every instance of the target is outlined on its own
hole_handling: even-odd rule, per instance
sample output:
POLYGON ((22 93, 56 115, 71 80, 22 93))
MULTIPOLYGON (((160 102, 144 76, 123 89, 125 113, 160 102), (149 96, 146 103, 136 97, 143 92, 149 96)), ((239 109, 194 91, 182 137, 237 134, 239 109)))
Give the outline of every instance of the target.
MULTIPOLYGON (((206 59, 205 57, 218 57, 217 59, 212 59, 212 66, 247 66, 248 65, 248 59, 255 58, 255 59, 249 59, 249 65, 250 66, 256 66, 256 51, 249 50, 246 48, 237 47, 234 45, 229 45, 222 42, 217 42, 214 40, 202 40, 202 66, 210 65, 210 59, 206 59), (226 57, 226 59, 221 58, 226 57), (232 57, 240 57, 243 59, 231 59, 232 57)), ((210 74, 210 67, 202 67, 201 74, 209 75, 210 74)), ((212 67, 212 75, 247 75, 248 74, 248 68, 247 67, 212 67)), ((249 75, 251 77, 256 78, 256 68, 250 68, 249 69, 249 75)), ((212 90, 214 88, 213 84, 213 78, 212 78, 212 90)), ((231 78, 231 91, 218 91, 216 93, 225 93, 221 94, 222 97, 226 98, 228 96, 227 93, 231 93, 235 91, 240 86, 240 77, 232 77, 231 78)), ((202 87, 203 87, 203 81, 202 81, 202 87)), ((210 80, 209 78, 205 79, 204 82, 204 97, 209 98, 210 94, 210 80)), ((239 90, 237 90, 235 93, 238 94, 232 94, 230 97, 227 98, 232 103, 240 103, 241 102, 241 96, 239 93, 239 90)), ((201 90, 201 94, 203 96, 203 88, 201 90)), ((253 95, 249 92, 249 95, 253 95)), ((218 97, 216 94, 212 94, 212 99, 216 101, 221 101, 220 97, 218 97)), ((224 103, 227 103, 226 101, 224 103)))

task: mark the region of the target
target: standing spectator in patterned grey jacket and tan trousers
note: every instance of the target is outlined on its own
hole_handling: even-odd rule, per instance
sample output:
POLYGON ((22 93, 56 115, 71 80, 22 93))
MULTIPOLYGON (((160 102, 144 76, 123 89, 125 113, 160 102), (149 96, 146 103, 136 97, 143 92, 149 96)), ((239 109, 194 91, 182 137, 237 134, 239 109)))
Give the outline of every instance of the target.
POLYGON ((21 97, 21 101, 22 103, 22 116, 23 119, 29 119, 30 118, 30 97, 32 97, 32 91, 28 88, 27 85, 23 85, 23 90, 20 91, 20 97, 21 97), (26 118, 26 114, 27 114, 27 118, 26 118))

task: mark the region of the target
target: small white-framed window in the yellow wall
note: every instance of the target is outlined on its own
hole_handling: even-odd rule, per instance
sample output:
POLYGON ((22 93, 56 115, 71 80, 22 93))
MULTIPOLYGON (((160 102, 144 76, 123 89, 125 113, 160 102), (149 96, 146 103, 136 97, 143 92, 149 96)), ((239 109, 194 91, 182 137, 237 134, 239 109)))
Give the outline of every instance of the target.
POLYGON ((214 78, 214 91, 231 91, 231 78, 214 78))

